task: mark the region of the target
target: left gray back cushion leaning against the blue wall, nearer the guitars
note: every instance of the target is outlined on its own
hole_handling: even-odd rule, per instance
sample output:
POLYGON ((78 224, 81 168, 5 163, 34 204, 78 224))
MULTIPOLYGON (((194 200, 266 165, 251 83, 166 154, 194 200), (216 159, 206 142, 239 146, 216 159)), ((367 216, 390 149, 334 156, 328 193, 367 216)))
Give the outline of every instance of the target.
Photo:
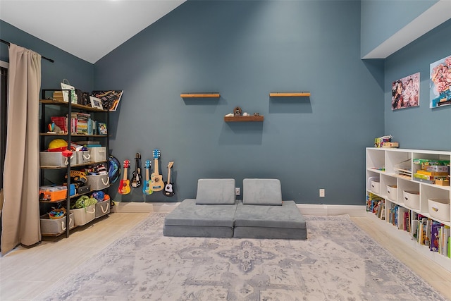
POLYGON ((235 179, 199 179, 196 204, 235 204, 235 179))

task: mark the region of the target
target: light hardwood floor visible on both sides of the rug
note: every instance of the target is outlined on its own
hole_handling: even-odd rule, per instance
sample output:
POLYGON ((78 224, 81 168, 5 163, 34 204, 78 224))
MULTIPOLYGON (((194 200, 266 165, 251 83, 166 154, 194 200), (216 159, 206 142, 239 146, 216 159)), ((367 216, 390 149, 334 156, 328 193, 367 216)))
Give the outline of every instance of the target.
MULTIPOLYGON (((149 213, 113 213, 95 223, 75 228, 69 238, 46 238, 35 247, 17 247, 0 258, 0 300, 32 300, 49 286, 149 216, 149 213)), ((416 274, 451 300, 451 273, 390 237, 369 217, 354 223, 416 274)))

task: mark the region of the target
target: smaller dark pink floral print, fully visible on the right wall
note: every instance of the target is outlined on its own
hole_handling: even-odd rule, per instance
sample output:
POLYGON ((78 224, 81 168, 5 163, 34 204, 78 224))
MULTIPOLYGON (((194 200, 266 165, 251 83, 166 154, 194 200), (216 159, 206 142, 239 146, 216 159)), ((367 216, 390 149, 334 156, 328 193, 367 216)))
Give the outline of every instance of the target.
POLYGON ((392 110, 420 105, 420 73, 392 83, 392 110))

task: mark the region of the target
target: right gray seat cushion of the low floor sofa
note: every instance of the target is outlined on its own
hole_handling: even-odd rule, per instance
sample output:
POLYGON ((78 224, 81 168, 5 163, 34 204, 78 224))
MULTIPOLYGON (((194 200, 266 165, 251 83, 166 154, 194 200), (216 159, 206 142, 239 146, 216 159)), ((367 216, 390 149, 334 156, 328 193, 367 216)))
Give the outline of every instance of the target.
POLYGON ((235 213, 235 227, 306 228, 304 216, 295 202, 282 206, 256 206, 240 202, 235 213))

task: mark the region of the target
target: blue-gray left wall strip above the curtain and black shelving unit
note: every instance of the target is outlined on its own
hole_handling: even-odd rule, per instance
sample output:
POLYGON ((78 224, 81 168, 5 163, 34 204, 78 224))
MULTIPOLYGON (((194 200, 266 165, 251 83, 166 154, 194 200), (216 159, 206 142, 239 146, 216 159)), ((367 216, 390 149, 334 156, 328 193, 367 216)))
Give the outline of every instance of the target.
MULTIPOLYGON (((78 59, 76 56, 4 22, 4 20, 0 20, 0 37, 55 61, 54 63, 44 59, 41 61, 42 89, 61 89, 60 83, 66 78, 71 85, 82 91, 94 90, 94 65, 92 63, 78 59)), ((85 47, 85 45, 80 43, 80 47, 85 47)), ((3 43, 0 43, 0 60, 9 61, 8 46, 3 43)))

